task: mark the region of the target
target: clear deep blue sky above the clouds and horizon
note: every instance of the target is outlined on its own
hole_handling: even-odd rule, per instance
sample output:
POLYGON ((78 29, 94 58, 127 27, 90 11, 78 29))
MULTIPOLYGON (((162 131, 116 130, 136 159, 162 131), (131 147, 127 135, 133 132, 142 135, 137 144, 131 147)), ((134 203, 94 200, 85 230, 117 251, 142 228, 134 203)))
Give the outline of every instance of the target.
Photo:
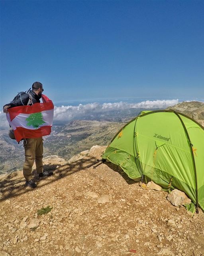
POLYGON ((1 0, 0 106, 204 95, 204 1, 1 0))

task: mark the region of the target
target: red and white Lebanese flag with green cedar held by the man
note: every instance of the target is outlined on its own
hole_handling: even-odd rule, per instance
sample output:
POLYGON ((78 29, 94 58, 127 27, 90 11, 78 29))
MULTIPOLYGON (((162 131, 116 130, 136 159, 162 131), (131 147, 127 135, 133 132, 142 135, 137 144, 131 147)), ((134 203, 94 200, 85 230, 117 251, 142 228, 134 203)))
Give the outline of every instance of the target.
POLYGON ((6 118, 14 130, 16 141, 49 135, 53 125, 53 102, 42 94, 43 103, 9 108, 6 118))

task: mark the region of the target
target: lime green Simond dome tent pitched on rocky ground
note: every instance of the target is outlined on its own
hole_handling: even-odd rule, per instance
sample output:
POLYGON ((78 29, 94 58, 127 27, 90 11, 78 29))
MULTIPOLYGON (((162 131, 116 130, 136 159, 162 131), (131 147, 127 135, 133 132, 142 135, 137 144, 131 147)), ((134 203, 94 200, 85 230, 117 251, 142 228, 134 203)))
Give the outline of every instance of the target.
POLYGON ((185 192, 204 210, 204 128, 174 110, 143 111, 112 139, 102 159, 131 179, 185 192))

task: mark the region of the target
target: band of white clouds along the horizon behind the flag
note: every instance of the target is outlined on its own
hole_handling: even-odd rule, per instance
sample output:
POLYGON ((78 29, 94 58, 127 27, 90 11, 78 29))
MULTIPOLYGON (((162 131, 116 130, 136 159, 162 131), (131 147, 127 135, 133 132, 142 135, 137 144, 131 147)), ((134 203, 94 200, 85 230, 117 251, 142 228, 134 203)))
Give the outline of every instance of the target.
MULTIPOLYGON (((85 115, 91 115, 92 113, 106 113, 112 110, 126 110, 130 108, 161 108, 165 109, 168 106, 173 106, 178 104, 179 100, 146 100, 139 103, 128 103, 128 102, 115 102, 115 103, 103 103, 98 102, 89 104, 79 104, 78 106, 60 106, 54 108, 54 120, 55 121, 71 121, 75 119, 80 119, 85 115)), ((3 111, 0 111, 0 128, 3 129, 8 127, 8 122, 6 120, 6 115, 3 111)))

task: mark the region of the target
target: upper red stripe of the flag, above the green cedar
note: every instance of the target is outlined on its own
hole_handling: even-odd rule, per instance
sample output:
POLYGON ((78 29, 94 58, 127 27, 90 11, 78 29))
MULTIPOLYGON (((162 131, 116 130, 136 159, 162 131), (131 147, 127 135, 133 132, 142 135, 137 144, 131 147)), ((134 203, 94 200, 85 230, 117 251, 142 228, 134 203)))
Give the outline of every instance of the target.
POLYGON ((11 121, 19 114, 33 114, 37 112, 42 112, 45 110, 51 110, 54 108, 53 102, 46 103, 35 103, 32 106, 18 106, 14 108, 9 108, 8 112, 10 114, 11 121))

